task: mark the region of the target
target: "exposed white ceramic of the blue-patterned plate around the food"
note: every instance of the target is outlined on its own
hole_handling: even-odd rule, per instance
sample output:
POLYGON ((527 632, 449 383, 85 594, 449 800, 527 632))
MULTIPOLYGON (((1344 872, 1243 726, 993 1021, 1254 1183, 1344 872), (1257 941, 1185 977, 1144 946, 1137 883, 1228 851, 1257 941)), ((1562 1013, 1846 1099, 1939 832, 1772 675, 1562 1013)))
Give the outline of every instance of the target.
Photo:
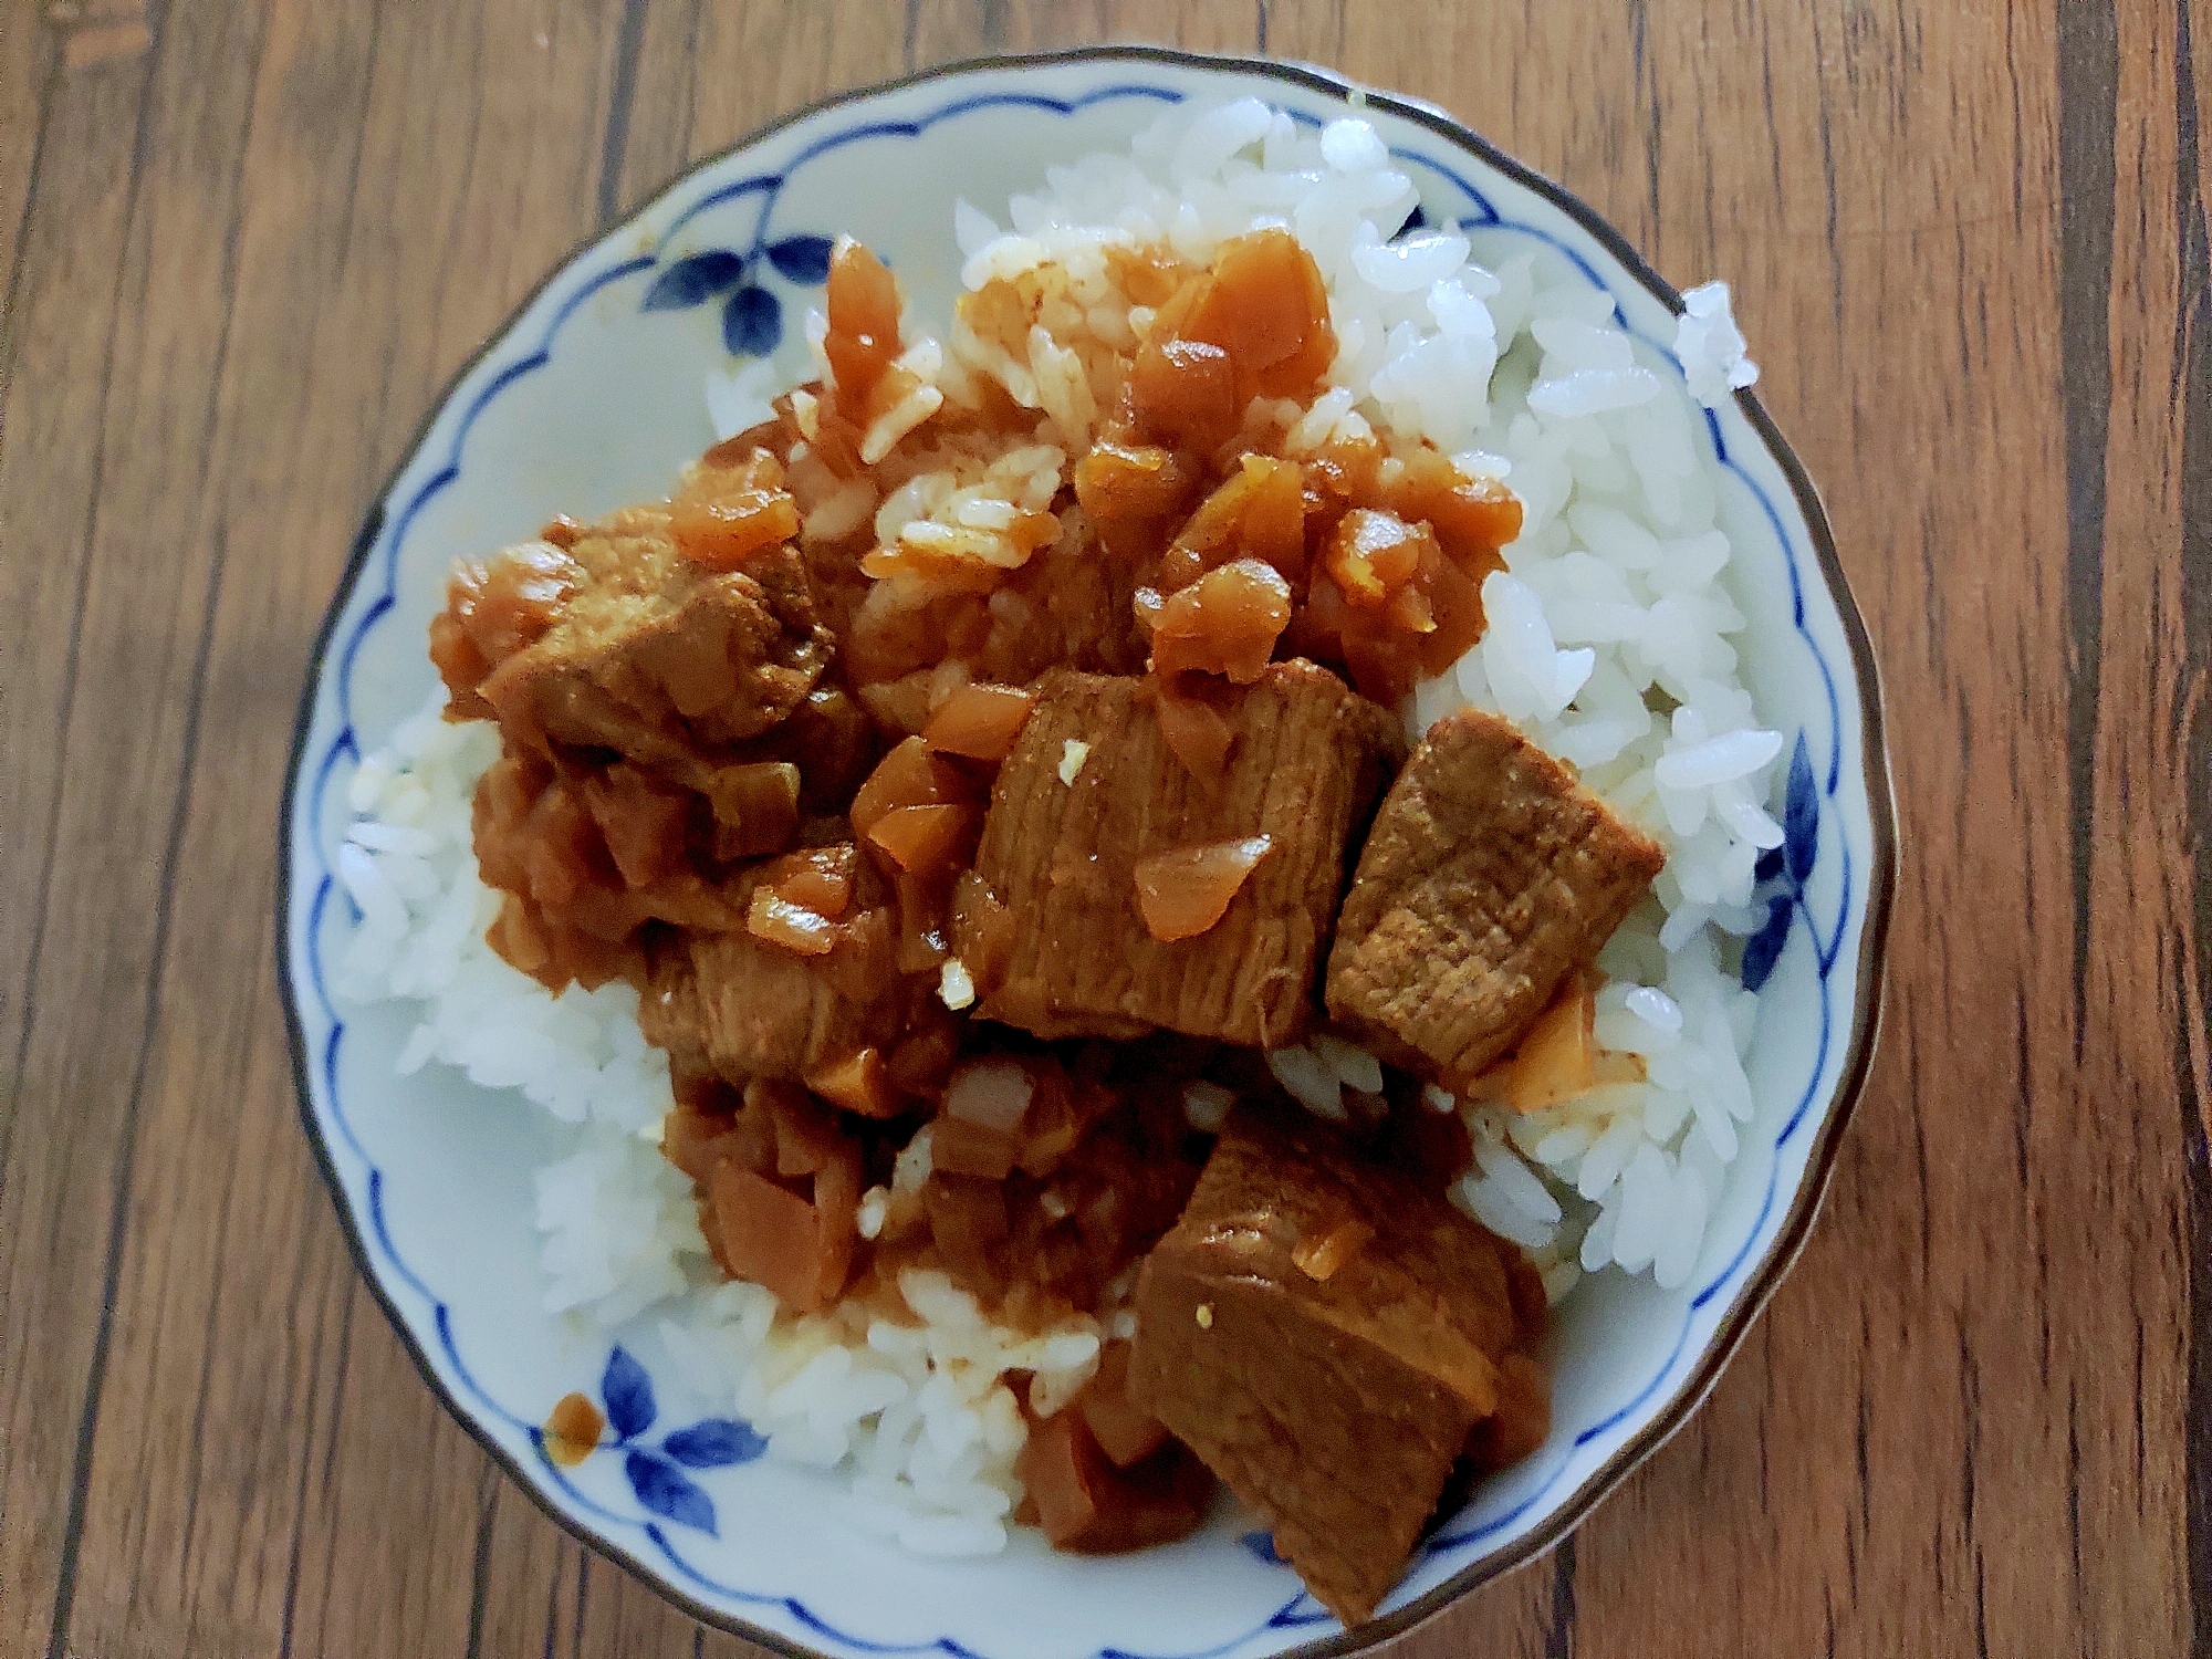
MULTIPOLYGON (((1312 71, 1126 51, 951 69, 803 113, 564 263, 456 380, 363 529, 305 690, 285 818, 281 942, 307 1128, 363 1272, 460 1420, 557 1520, 701 1617, 838 1659, 1358 1646, 1564 1535, 1688 1416, 1812 1221, 1871 1046, 1893 832, 1865 637, 1818 504, 1750 398, 1708 422, 1708 442, 1752 617, 1747 679, 1765 723, 1798 745, 1790 852, 1761 889, 1781 953, 1750 1060, 1756 1119, 1690 1285, 1668 1294, 1613 1272, 1575 1292, 1555 1338, 1551 1444, 1482 1486, 1385 1617, 1349 1639, 1225 1513, 1121 1559, 1053 1555, 1024 1535, 995 1559, 927 1562, 854 1528, 838 1480, 754 1460, 741 1433, 686 1440, 697 1402, 650 1387, 648 1334, 624 1334, 611 1360, 604 1336, 540 1312, 529 1170, 560 1155, 564 1130, 438 1068, 398 1079, 407 1011, 334 1004, 325 989, 352 927, 332 883, 345 783, 431 686, 422 630, 456 555, 531 535, 555 511, 588 518, 664 491, 712 440, 706 372, 768 347, 779 323, 779 372, 803 374, 818 239, 863 237, 916 314, 942 319, 956 195, 1000 208, 1048 161, 1124 144, 1166 102, 1256 93, 1327 119, 1347 91, 1312 71), (535 1425, 571 1389, 630 1433, 560 1471, 535 1425), (679 1495, 639 1467, 679 1471, 679 1495)), ((1376 95, 1365 113, 1427 217, 1467 223, 1478 259, 1528 239, 1566 252, 1663 354, 1672 292, 1586 208, 1433 111, 1376 95)))

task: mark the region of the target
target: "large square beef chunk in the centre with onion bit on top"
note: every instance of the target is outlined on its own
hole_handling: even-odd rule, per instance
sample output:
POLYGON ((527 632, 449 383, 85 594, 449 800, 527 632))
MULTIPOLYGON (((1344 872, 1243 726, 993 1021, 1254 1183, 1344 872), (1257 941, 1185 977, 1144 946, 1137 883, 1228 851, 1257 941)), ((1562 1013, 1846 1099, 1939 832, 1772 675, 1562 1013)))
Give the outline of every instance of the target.
POLYGON ((1219 779, 1199 779, 1161 737, 1144 681, 1066 670, 1037 681, 975 854, 995 905, 956 918, 980 1013, 1040 1037, 1166 1026, 1283 1046, 1305 1033, 1345 843, 1398 737, 1385 710, 1303 661, 1274 664, 1241 692, 1230 730, 1219 779), (1139 860, 1250 836, 1267 836, 1267 852, 1221 918, 1155 938, 1139 860))

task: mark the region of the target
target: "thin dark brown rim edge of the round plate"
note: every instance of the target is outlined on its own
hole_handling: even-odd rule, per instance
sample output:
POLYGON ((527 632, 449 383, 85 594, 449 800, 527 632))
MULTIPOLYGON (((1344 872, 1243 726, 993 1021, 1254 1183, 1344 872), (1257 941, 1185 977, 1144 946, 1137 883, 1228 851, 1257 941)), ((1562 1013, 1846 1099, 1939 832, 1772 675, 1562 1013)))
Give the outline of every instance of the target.
MULTIPOLYGON (((964 75, 980 73, 1018 73, 1022 69, 1048 69, 1062 64, 1150 64, 1168 66, 1179 71, 1190 71, 1197 75, 1219 75, 1219 73, 1241 73, 1261 75, 1279 82, 1287 82, 1310 93, 1321 93, 1347 108, 1380 108, 1389 115, 1407 119, 1416 126, 1431 131, 1436 137, 1444 139, 1453 148, 1471 153, 1475 159, 1506 175, 1511 181, 1526 190, 1533 190, 1551 206, 1559 208, 1568 219, 1575 221, 1586 234, 1590 234, 1621 270, 1650 294, 1655 294, 1670 312, 1681 312, 1681 294, 1644 259, 1641 252, 1615 230, 1595 208, 1590 208, 1582 197, 1577 197, 1566 186, 1537 173, 1528 164, 1506 155, 1491 139, 1486 139, 1475 128, 1467 126, 1442 106, 1431 104, 1420 97, 1389 93, 1380 88, 1365 86, 1347 75, 1340 75, 1321 64, 1303 60, 1283 58, 1261 58, 1250 53, 1206 53, 1188 51, 1181 46, 1155 46, 1135 42, 1113 42, 1113 44, 1084 44, 1066 46, 1057 51, 1035 51, 1035 53, 984 53, 978 58, 960 58, 942 64, 931 64, 927 69, 916 69, 905 75, 896 75, 880 82, 869 82, 865 86, 852 86, 825 97, 812 100, 796 108, 776 115, 774 119, 752 128, 737 142, 703 155, 684 168, 668 175, 659 186, 655 186, 630 212, 602 230, 575 241, 564 254, 560 254, 546 274, 531 285, 531 290, 515 301, 507 319, 495 325, 484 341, 462 358, 451 376, 440 385, 429 411, 414 427, 407 445, 400 451, 398 462, 385 476, 383 484, 376 489, 361 529, 354 535, 352 551, 332 599, 323 613, 323 622, 316 628, 314 644, 307 653, 303 668, 303 684, 299 708, 292 723, 290 754, 285 761, 283 796, 279 803, 279 869, 276 869, 276 971, 279 971, 279 993, 285 1015, 285 1035, 292 1057, 292 1093, 296 1099, 301 1126, 307 1137, 307 1146, 314 1150, 316 1170, 323 1177, 323 1186, 330 1192, 332 1208, 338 1217, 338 1228, 345 1234, 347 1252, 352 1254, 354 1270, 367 1283, 369 1294, 376 1298, 385 1318, 389 1321, 394 1334, 400 1338, 400 1347, 414 1363, 416 1371, 429 1385, 434 1398, 445 1407, 447 1416, 460 1425, 460 1429, 500 1467, 500 1471, 518 1484, 524 1495, 564 1533, 575 1537, 580 1544, 591 1548, 602 1559, 619 1566, 630 1577, 646 1584, 655 1595, 668 1599, 681 1608, 688 1617, 726 1630, 730 1635, 754 1641, 763 1648, 785 1655, 787 1659, 841 1659, 827 1648, 816 1648, 781 1630, 770 1630, 734 1613, 706 1604, 675 1584, 670 1577, 657 1573, 646 1559, 624 1548, 613 1537, 595 1531, 582 1517, 560 1509, 540 1484, 522 1469, 520 1460, 511 1455, 491 1433, 482 1427, 469 1407, 465 1407, 447 1383, 438 1376, 429 1360, 422 1340, 416 1336, 411 1323, 400 1312, 394 1301, 392 1290, 385 1285, 383 1274, 372 1263, 367 1252, 367 1241, 363 1239, 361 1223, 354 1217, 354 1206, 345 1190, 345 1179, 336 1168, 336 1159, 323 1135, 323 1126, 314 1110, 314 1097, 310 1086, 310 1057, 305 1026, 301 1020, 301 973, 299 962, 292 951, 292 920, 294 920, 294 883, 292 883, 292 843, 296 834, 296 805, 303 783, 303 765, 307 757, 310 730, 314 726, 316 695, 323 686, 323 677, 330 666, 330 646, 336 635, 338 617, 352 599, 361 573, 369 562, 378 540, 385 529, 385 502, 398 487, 400 478, 414 465, 431 429, 440 416, 451 405, 456 392, 462 383, 482 365, 482 361, 500 345, 509 334, 513 323, 518 323, 538 299, 568 272, 577 259, 586 257, 595 248, 615 241, 624 234, 637 230, 637 226, 648 219, 655 208, 684 181, 690 177, 728 161, 730 157, 750 150, 765 139, 774 137, 787 126, 812 119, 816 115, 845 108, 852 104, 863 104, 885 93, 898 93, 914 86, 927 86, 938 80, 956 80, 964 75)), ((1661 1409, 1644 1429, 1628 1436, 1597 1469, 1593 1469, 1559 1504, 1553 1513, 1531 1526, 1526 1533, 1500 1544, 1484 1555, 1478 1555, 1467 1566, 1462 1566, 1451 1577, 1442 1579, 1433 1588, 1425 1590, 1416 1599, 1407 1601, 1402 1608, 1369 1619, 1349 1630, 1338 1630, 1336 1635, 1314 1637, 1287 1648, 1276 1650, 1270 1659, 1338 1659, 1338 1655, 1356 1655, 1374 1648, 1383 1641, 1400 1637, 1458 1601, 1469 1590, 1475 1590, 1491 1579, 1498 1579, 1520 1566, 1526 1566, 1562 1540, 1568 1537, 1588 1515, 1661 1444, 1666 1444, 1712 1394, 1728 1369, 1728 1363, 1743 1347, 1743 1338, 1756 1323, 1759 1314, 1765 1312, 1767 1303, 1781 1290, 1783 1279, 1796 1265, 1798 1256, 1805 1252, 1805 1243, 1812 1237, 1812 1225, 1818 1219, 1820 1206, 1827 1197, 1829 1181, 1834 1177, 1836 1155, 1843 1144, 1843 1130, 1849 1126, 1851 1115, 1858 1108, 1860 1095, 1867 1086, 1867 1075, 1874 1062, 1874 1051, 1880 1037, 1882 1004, 1885 1004, 1885 962, 1887 962, 1887 940, 1891 922, 1891 900, 1896 885, 1896 858, 1898 858, 1898 827, 1896 827, 1896 805, 1891 792, 1889 772, 1889 750, 1885 741, 1885 697, 1880 684, 1880 664, 1874 657, 1874 646, 1867 635, 1865 619, 1860 617, 1858 602, 1851 595, 1849 580, 1845 577, 1843 562, 1836 551, 1834 529, 1827 518, 1827 509, 1820 500, 1818 489, 1805 473, 1796 449, 1783 438, 1781 429, 1767 416, 1759 398, 1739 389, 1732 394, 1736 407, 1750 422, 1752 431, 1759 436, 1765 451, 1772 456, 1783 473, 1783 482, 1790 487, 1798 513, 1805 520, 1805 531, 1814 549, 1814 560, 1820 568, 1820 580, 1827 588, 1829 602, 1836 608, 1836 619, 1843 630, 1845 648, 1849 650, 1851 670, 1858 692, 1860 712, 1860 774, 1867 792, 1867 823, 1871 838, 1871 860, 1867 869, 1867 900, 1865 900, 1865 922, 1860 925, 1858 956, 1856 956, 1856 978, 1851 998, 1851 1026, 1843 1048, 1843 1060, 1836 1073, 1836 1088, 1829 1097, 1829 1108, 1814 1135, 1814 1144, 1807 1150, 1805 1175, 1798 1181, 1796 1192, 1781 1228, 1774 1234, 1774 1243, 1767 1250, 1765 1261, 1745 1279, 1736 1290, 1730 1305, 1721 1312, 1710 1340, 1692 1371, 1677 1387, 1674 1398, 1661 1409)), ((933 1646, 933 1644, 922 1644, 933 1646)))

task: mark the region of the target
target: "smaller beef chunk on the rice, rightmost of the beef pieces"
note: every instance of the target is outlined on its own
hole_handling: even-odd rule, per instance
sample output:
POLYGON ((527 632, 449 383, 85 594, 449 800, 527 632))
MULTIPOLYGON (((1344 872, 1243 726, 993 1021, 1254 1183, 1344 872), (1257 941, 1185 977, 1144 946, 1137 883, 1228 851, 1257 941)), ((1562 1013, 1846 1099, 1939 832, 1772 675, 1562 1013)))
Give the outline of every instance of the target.
POLYGON ((1383 1060, 1464 1082, 1597 956, 1666 854, 1524 739, 1462 710, 1376 814, 1329 953, 1329 1015, 1383 1060))

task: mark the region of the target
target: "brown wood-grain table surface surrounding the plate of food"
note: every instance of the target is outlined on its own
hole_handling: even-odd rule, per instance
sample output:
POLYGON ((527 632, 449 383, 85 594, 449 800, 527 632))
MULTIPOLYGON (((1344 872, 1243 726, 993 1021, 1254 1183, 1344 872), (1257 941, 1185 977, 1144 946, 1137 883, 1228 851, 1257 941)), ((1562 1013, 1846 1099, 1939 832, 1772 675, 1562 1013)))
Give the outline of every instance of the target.
POLYGON ((0 1655, 734 1655, 422 1387, 274 821, 363 507, 688 157, 1095 38, 1436 100, 1736 283, 1889 692, 1889 1024, 1712 1400, 1407 1655, 2212 1650, 2212 0, 0 0, 0 1655))

